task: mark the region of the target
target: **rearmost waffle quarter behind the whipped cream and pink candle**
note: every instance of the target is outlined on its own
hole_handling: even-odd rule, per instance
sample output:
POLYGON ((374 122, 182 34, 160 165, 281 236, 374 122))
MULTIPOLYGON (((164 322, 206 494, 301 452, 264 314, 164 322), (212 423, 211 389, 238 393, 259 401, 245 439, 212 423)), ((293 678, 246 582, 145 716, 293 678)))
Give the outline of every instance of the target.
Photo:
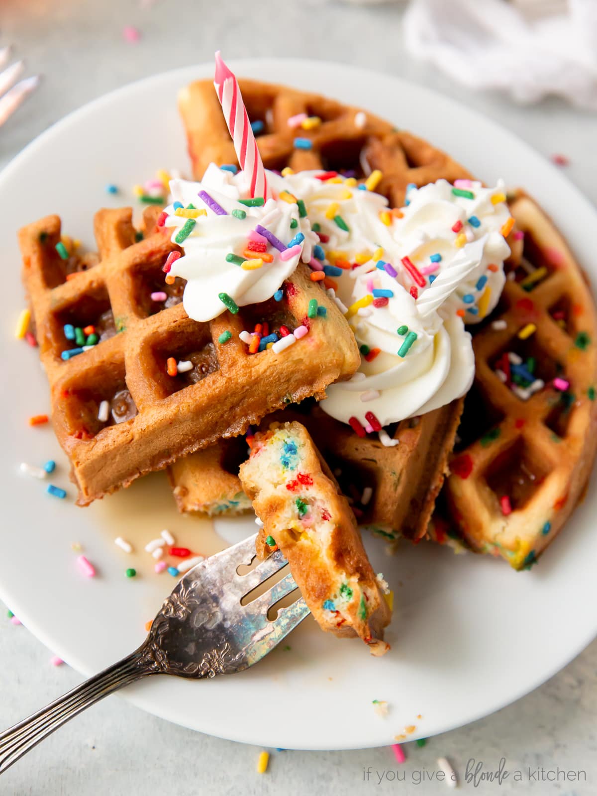
MULTIPOLYGON (((453 182, 470 174, 447 154, 406 131, 360 108, 328 100, 295 88, 239 80, 240 91, 251 122, 263 123, 257 133, 259 153, 266 169, 295 171, 323 169, 353 171, 357 179, 379 169, 383 177, 377 193, 400 207, 409 183, 427 185, 439 179, 453 182), (318 127, 303 130, 288 120, 299 114, 320 119, 318 127), (363 121, 362 124, 361 120, 363 121), (310 150, 297 149, 295 139, 310 139, 310 150)), ((209 163, 236 163, 220 102, 210 80, 197 80, 178 95, 197 180, 209 163)))

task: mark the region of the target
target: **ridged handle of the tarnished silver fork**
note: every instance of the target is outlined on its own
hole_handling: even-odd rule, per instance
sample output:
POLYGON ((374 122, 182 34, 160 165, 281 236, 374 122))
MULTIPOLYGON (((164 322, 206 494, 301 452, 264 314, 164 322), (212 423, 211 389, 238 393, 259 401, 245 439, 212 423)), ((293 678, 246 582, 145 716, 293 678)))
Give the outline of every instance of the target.
POLYGON ((151 674, 150 668, 142 665, 140 657, 138 650, 0 733, 0 774, 77 713, 124 685, 151 674))

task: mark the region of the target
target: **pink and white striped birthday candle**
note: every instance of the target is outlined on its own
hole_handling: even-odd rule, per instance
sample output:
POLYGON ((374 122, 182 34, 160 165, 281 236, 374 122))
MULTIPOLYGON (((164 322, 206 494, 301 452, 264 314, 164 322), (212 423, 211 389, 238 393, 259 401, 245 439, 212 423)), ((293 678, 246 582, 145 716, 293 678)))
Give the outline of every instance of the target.
POLYGON ((263 197, 267 201, 265 169, 257 149, 247 109, 244 107, 238 81, 221 59, 220 50, 216 53, 216 76, 213 84, 216 87, 228 130, 232 135, 240 168, 251 181, 251 196, 253 198, 263 197))

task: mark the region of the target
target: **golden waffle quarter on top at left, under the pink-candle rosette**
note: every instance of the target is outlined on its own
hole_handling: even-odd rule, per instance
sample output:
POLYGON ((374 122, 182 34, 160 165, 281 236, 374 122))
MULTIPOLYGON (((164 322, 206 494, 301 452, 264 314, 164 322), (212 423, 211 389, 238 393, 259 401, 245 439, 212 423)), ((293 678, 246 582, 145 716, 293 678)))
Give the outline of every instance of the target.
POLYGON ((285 402, 323 396, 327 384, 357 368, 348 323, 305 266, 285 283, 285 298, 274 310, 263 302, 198 323, 181 303, 160 310, 164 305, 150 298, 168 291, 166 305, 180 301, 181 283, 167 286, 163 279, 166 256, 178 248, 167 232, 156 229, 135 243, 130 208, 100 210, 95 231, 99 254, 92 267, 84 259, 61 259, 57 216, 19 232, 54 430, 71 460, 80 505, 222 436, 243 433, 285 402), (238 334, 256 314, 266 320, 270 311, 276 318, 283 312, 293 330, 305 321, 310 298, 326 306, 327 315, 306 322, 306 337, 279 355, 271 349, 248 355, 238 334), (75 347, 64 335, 67 324, 95 325, 101 339, 64 361, 64 350, 75 347), (225 330, 232 338, 220 343, 225 330), (193 367, 171 377, 170 357, 193 367), (98 419, 104 400, 112 409, 107 422, 98 419))

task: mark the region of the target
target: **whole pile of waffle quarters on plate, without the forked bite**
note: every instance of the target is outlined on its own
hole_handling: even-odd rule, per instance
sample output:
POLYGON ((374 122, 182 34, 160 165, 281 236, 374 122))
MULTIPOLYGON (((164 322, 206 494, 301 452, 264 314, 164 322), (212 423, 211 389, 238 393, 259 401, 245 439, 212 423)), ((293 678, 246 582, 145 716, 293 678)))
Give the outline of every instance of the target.
MULTIPOLYGON (((470 178, 447 154, 356 107, 251 80, 240 88, 268 169, 334 170, 357 181, 380 170, 376 190, 391 206, 404 203, 409 184, 470 178)), ((194 176, 210 162, 235 163, 213 84, 191 84, 179 105, 194 176)), ((476 378, 455 453, 462 400, 363 437, 318 408, 329 384, 355 372, 359 353, 306 267, 285 283, 281 304, 199 323, 181 304, 183 280, 164 284, 163 263, 178 247, 151 213, 136 231, 130 209, 100 210, 92 256, 60 248, 58 217, 23 228, 53 423, 80 504, 168 466, 181 511, 243 511, 242 435, 250 425, 298 419, 362 524, 392 537, 458 538, 515 568, 532 564, 574 509, 595 456, 596 318, 582 271, 550 221, 524 195, 510 209, 510 279, 474 333, 476 378), (311 298, 327 315, 310 324, 308 355, 304 341, 283 355, 248 353, 240 332, 258 323, 292 330, 311 298)))

